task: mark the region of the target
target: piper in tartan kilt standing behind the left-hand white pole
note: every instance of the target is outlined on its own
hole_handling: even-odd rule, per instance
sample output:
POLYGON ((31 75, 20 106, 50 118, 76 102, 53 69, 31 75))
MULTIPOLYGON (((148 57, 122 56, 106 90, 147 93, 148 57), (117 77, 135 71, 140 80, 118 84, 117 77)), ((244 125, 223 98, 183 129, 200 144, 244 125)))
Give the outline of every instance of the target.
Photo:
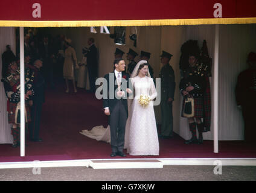
MULTIPOLYGON (((11 124, 11 134, 13 135, 13 145, 12 147, 18 147, 20 144, 20 73, 18 65, 15 61, 16 59, 11 59, 8 63, 8 75, 2 79, 4 83, 5 93, 7 95, 7 112, 8 112, 8 122, 11 124)), ((26 72, 25 72, 26 73, 26 72)), ((33 95, 32 84, 29 77, 25 77, 25 122, 30 121, 30 110, 28 107, 28 100, 31 95, 33 95)), ((26 125, 27 130, 27 125, 26 125)))

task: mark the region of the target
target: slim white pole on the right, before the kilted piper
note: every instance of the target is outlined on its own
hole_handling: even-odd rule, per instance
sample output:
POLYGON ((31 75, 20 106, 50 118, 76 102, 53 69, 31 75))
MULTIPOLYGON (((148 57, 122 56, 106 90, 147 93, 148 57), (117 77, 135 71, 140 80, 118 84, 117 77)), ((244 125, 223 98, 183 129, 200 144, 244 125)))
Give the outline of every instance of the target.
POLYGON ((219 106, 219 24, 215 25, 215 46, 214 46, 214 87, 213 87, 213 138, 214 138, 214 153, 219 153, 218 139, 218 106, 219 106))

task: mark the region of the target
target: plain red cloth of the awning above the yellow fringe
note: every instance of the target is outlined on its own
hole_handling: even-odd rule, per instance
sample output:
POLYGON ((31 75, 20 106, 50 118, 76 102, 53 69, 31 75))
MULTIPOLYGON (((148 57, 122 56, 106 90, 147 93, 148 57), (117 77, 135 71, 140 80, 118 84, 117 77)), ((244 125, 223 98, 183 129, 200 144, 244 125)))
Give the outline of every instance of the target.
POLYGON ((0 2, 0 21, 214 19, 216 3, 222 5, 222 18, 256 18, 256 0, 5 0, 0 2), (33 17, 35 3, 41 17, 33 17))

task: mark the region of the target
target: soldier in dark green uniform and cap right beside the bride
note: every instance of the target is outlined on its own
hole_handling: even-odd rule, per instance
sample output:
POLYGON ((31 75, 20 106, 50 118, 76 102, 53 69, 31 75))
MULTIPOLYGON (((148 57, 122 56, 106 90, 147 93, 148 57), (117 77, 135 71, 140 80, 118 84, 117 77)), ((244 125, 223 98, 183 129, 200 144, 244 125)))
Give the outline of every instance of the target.
POLYGON ((173 100, 175 90, 175 77, 173 68, 169 62, 173 55, 168 52, 162 51, 161 63, 162 68, 160 71, 161 78, 161 135, 160 138, 173 137, 173 100))

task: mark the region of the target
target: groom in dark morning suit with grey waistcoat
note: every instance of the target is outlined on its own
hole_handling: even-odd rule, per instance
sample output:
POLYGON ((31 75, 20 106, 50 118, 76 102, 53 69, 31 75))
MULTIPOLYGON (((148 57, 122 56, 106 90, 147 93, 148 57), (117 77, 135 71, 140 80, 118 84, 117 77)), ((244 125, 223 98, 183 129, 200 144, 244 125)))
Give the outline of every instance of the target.
MULTIPOLYGON (((127 89, 129 75, 124 73, 126 65, 123 59, 114 60, 114 72, 106 74, 107 98, 103 98, 104 113, 109 115, 111 157, 125 157, 123 153, 126 120, 128 118, 127 95, 132 90, 127 89), (114 88, 114 89, 113 89, 114 88)), ((103 85, 104 86, 104 85, 103 85)))

